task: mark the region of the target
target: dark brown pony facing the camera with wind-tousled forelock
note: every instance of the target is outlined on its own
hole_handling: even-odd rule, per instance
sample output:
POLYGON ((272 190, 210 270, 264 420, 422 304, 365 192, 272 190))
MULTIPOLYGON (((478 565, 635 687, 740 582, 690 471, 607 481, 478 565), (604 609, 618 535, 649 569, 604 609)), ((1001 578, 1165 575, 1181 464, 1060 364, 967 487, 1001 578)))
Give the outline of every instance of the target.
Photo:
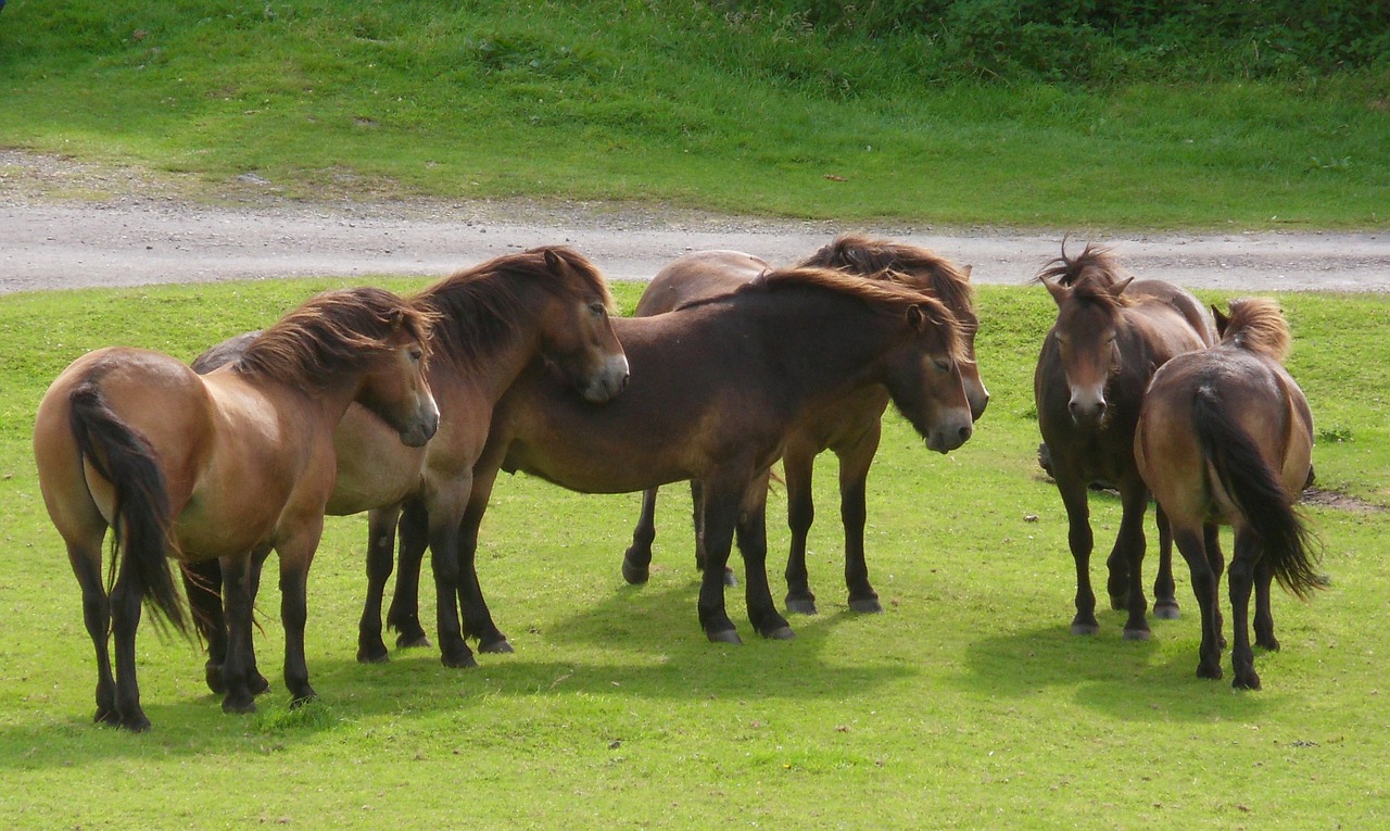
MULTIPOLYGON (((1106 561, 1111 606, 1129 609, 1125 636, 1144 639, 1150 635, 1141 574, 1148 489, 1134 466, 1134 424, 1154 371, 1173 356, 1205 349, 1215 332, 1195 297, 1162 281, 1119 279, 1113 257, 1093 245, 1077 257, 1063 250, 1037 279, 1058 306, 1038 356, 1033 393, 1076 561, 1072 632, 1099 631, 1090 578, 1094 541, 1087 488, 1104 481, 1119 489, 1123 504, 1106 561)), ((1176 617, 1172 543, 1162 509, 1156 518, 1155 614, 1176 617)))

